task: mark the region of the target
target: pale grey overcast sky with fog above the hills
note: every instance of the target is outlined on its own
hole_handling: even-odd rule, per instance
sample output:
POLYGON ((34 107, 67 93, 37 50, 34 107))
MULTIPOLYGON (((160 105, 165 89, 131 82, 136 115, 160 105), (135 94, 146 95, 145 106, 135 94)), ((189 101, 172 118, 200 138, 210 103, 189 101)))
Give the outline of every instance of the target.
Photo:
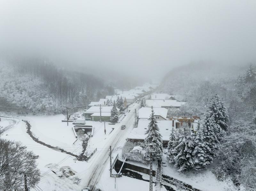
POLYGON ((256 1, 0 0, 0 49, 158 77, 202 60, 255 63, 256 1))

